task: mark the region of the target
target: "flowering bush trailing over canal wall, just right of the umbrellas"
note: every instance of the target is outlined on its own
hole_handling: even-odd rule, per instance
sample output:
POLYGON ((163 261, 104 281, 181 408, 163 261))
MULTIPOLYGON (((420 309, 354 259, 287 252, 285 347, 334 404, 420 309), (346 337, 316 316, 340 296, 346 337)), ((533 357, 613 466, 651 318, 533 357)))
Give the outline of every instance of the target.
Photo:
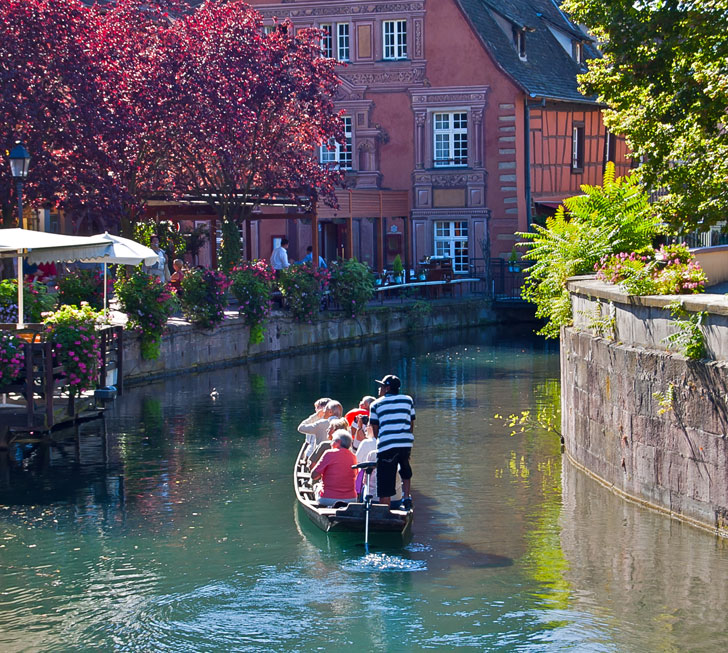
POLYGON ((127 329, 141 335, 142 358, 159 356, 159 340, 177 302, 167 287, 156 277, 136 268, 131 275, 120 276, 114 284, 121 310, 126 313, 127 329))

